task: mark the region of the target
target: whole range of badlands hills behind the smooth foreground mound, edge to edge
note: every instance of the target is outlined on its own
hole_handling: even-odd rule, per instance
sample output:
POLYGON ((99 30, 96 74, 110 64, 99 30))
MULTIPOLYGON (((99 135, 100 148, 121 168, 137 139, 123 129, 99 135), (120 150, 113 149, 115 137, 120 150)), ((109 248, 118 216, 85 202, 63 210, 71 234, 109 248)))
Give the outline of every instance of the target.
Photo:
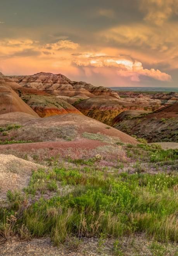
POLYGON ((0 93, 0 114, 16 111, 34 118, 75 114, 83 122, 88 116, 91 122, 96 119, 149 142, 166 138, 177 142, 178 93, 114 92, 71 81, 62 74, 43 72, 9 77, 1 73, 0 93), (162 118, 167 121, 161 121, 162 118))

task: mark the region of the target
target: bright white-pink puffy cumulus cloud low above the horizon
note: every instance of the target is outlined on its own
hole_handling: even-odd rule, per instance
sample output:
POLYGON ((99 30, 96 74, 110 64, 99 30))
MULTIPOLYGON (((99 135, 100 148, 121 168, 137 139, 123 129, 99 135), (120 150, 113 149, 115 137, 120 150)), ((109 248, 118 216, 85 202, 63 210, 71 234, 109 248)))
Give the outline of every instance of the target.
MULTIPOLYGON (((160 81, 171 81, 171 76, 160 70, 144 69, 142 63, 128 57, 111 57, 101 54, 85 54, 75 59, 73 63, 80 67, 114 68, 118 76, 128 77, 131 81, 140 81, 140 76, 147 76, 160 81)), ((102 72, 102 69, 101 69, 102 72)))

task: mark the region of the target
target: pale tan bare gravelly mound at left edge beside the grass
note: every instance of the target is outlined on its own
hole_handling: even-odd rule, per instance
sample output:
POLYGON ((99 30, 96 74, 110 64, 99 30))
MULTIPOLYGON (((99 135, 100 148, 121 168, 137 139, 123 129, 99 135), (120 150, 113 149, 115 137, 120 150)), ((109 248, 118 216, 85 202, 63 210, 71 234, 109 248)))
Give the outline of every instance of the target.
POLYGON ((8 190, 23 189, 29 183, 32 170, 41 166, 21 158, 0 154, 0 200, 8 190))

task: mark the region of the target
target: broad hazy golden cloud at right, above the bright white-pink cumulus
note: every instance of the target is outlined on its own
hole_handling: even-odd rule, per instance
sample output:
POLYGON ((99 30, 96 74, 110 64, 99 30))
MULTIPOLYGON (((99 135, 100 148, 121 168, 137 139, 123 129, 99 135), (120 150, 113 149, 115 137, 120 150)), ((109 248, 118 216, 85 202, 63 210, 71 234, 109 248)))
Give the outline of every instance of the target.
MULTIPOLYGON (((114 26, 100 31, 99 37, 105 44, 112 45, 111 51, 139 59, 147 65, 159 67, 166 63, 169 69, 178 67, 174 57, 178 55, 178 22, 167 22, 162 27, 133 23, 114 26)), ((165 69, 166 70, 166 69, 165 69)))

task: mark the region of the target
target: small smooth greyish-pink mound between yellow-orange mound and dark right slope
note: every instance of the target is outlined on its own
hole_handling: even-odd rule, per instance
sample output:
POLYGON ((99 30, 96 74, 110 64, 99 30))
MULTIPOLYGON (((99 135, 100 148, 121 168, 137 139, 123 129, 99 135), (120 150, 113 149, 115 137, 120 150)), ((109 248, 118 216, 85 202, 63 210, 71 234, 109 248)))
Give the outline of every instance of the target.
POLYGON ((141 114, 148 114, 148 113, 149 113, 149 111, 145 111, 145 110, 123 111, 118 116, 116 116, 116 118, 114 118, 112 125, 115 125, 116 123, 119 123, 119 122, 123 121, 124 119, 130 119, 135 116, 140 116, 141 114))

